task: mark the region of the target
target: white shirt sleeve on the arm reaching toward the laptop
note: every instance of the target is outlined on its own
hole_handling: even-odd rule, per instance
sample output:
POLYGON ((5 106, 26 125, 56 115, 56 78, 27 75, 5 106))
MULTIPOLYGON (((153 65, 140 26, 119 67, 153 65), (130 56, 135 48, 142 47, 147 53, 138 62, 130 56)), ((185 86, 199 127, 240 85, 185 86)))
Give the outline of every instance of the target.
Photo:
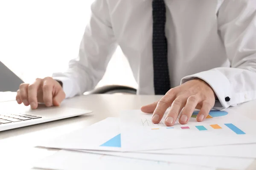
POLYGON ((105 74, 116 47, 108 4, 106 0, 95 0, 91 6, 90 21, 85 28, 78 57, 70 60, 67 71, 52 75, 53 79, 63 83, 67 98, 95 88, 105 74))

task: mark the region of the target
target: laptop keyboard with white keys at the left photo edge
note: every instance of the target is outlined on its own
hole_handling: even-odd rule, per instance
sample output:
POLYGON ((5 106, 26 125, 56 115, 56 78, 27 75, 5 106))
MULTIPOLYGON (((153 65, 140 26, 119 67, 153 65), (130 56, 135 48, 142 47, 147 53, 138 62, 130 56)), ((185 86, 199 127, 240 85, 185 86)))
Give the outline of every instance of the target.
POLYGON ((39 119, 39 118, 42 118, 42 117, 31 115, 31 114, 23 114, 23 113, 17 113, 17 114, 2 114, 2 113, 0 113, 0 125, 12 123, 12 122, 20 122, 20 121, 25 121, 25 120, 39 119))

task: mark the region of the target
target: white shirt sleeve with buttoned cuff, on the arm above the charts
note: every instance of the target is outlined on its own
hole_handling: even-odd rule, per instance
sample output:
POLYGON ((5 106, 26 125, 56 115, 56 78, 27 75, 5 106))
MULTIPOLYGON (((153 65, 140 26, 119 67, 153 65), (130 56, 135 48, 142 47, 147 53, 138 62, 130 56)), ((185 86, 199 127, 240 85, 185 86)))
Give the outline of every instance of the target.
POLYGON ((230 68, 186 76, 180 83, 203 79, 218 97, 214 108, 223 110, 256 99, 256 1, 224 0, 217 17, 230 68))

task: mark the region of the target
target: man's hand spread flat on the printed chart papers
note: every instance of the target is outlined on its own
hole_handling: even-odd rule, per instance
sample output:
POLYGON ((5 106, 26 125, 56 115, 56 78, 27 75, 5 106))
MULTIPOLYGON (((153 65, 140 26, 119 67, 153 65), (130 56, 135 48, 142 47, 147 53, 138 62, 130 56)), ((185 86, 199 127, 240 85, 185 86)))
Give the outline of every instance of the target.
POLYGON ((197 121, 203 121, 215 104, 215 93, 212 88, 201 79, 192 79, 184 84, 170 89, 159 101, 141 108, 144 113, 153 113, 152 122, 159 123, 167 108, 171 106, 166 116, 165 124, 172 126, 182 110, 179 122, 186 124, 193 111, 199 109, 197 121))

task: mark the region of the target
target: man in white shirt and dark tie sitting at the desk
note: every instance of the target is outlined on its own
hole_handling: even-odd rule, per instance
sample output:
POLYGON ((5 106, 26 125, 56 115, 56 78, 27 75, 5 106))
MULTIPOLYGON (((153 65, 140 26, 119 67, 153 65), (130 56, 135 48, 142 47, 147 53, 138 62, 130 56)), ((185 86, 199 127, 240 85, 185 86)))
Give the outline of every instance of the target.
POLYGON ((21 84, 17 102, 37 108, 92 90, 117 45, 130 62, 137 94, 163 94, 143 106, 158 123, 186 124, 195 108, 210 109, 256 99, 255 0, 95 0, 79 56, 65 73, 21 84), (57 82, 57 81, 58 82, 57 82), (62 85, 62 86, 61 86, 62 85))

